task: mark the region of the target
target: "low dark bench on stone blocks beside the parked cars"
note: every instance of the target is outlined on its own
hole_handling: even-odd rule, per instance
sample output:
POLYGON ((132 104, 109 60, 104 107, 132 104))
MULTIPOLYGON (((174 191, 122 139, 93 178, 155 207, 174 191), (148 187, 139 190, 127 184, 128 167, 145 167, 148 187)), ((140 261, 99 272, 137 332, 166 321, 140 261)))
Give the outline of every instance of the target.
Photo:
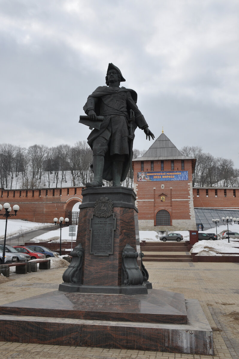
POLYGON ((10 267, 16 267, 16 274, 27 274, 30 272, 37 272, 37 263, 39 263, 39 269, 50 269, 50 259, 29 261, 24 263, 9 263, 0 265, 0 272, 9 277, 10 267))

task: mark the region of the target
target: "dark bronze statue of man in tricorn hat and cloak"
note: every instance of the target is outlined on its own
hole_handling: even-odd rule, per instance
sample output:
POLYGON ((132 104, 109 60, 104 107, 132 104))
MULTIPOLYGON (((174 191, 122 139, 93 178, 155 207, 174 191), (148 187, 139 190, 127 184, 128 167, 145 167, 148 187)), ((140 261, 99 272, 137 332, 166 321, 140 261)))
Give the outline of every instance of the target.
POLYGON ((110 63, 105 79, 107 86, 97 87, 83 107, 92 127, 95 127, 87 138, 93 151, 94 172, 93 181, 86 183, 87 187, 101 187, 102 180, 113 181, 113 186, 120 186, 132 164, 135 129, 144 130, 146 139, 155 137, 136 105, 137 93, 119 87, 125 79, 118 67, 110 63), (98 122, 102 118, 101 125, 94 126, 93 121, 98 122))

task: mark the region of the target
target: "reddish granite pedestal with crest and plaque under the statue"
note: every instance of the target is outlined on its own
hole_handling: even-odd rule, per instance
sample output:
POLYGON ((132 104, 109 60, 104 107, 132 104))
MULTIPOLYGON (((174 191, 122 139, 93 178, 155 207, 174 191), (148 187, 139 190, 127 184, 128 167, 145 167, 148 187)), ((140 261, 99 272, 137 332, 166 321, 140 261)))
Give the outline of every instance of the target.
MULTIPOLYGON (((96 187, 82 190, 82 204, 79 206, 79 221, 76 245, 82 246, 81 273, 63 276, 64 283, 59 290, 63 292, 108 293, 108 294, 146 294, 152 285, 145 280, 135 279, 125 284, 124 260, 125 246, 138 253, 135 263, 138 272, 128 271, 136 276, 142 271, 138 210, 135 207, 136 195, 132 188, 96 187), (71 276, 71 278, 70 278, 71 276), (72 279, 72 276, 74 277, 72 279)), ((74 253, 73 253, 74 255, 74 253)), ((74 263, 71 264, 74 267, 74 263)), ((66 271, 70 273, 71 268, 66 271)))

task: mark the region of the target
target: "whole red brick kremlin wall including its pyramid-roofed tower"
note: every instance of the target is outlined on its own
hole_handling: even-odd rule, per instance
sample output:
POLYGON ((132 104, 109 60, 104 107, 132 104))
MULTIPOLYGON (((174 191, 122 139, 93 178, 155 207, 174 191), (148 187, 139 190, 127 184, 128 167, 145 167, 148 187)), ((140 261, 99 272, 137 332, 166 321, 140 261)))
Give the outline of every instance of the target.
MULTIPOLYGON (((139 230, 195 230, 195 208, 239 211, 239 188, 192 186, 195 164, 164 133, 133 160, 139 230)), ((69 217, 82 201, 82 188, 2 189, 0 203, 18 204, 16 219, 53 223, 54 217, 69 217)))

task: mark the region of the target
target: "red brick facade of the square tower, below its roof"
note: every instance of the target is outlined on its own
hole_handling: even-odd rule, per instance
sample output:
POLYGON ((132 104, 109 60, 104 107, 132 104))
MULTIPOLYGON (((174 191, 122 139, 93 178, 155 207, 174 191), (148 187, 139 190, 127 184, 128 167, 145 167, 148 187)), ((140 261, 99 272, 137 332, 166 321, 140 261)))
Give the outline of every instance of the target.
MULTIPOLYGON (((141 172, 141 161, 134 161, 134 185, 137 185, 137 203, 139 220, 154 220, 159 210, 170 213, 171 225, 174 219, 190 219, 189 182, 192 182, 192 161, 184 160, 184 170, 188 171, 188 181, 152 181, 138 182, 137 172, 141 172), (164 188, 161 188, 164 185, 164 188), (165 202, 161 202, 161 194, 165 202), (143 200, 143 201, 142 201, 143 200), (176 201, 181 200, 181 201, 176 201)), ((181 160, 174 160, 175 171, 181 171, 181 160)), ((161 172, 161 161, 154 161, 154 171, 161 172)), ((144 161, 144 172, 151 171, 151 161, 144 161)), ((164 160, 164 171, 171 171, 171 160, 164 160)))

